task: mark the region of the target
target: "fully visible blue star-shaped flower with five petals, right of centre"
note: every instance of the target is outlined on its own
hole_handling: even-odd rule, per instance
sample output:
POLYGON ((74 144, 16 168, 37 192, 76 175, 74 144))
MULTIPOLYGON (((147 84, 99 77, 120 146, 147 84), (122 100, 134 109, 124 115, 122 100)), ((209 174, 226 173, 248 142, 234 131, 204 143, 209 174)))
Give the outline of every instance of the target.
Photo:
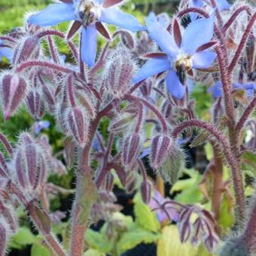
POLYGON ((206 69, 214 62, 216 53, 207 50, 215 44, 210 42, 213 35, 213 17, 198 19, 190 23, 181 35, 178 21, 173 23, 173 35, 157 22, 154 14, 146 19, 148 33, 157 42, 163 53, 154 53, 153 59, 145 63, 133 79, 139 83, 153 75, 166 72, 167 90, 172 96, 181 99, 185 93, 186 74, 193 69, 206 69))

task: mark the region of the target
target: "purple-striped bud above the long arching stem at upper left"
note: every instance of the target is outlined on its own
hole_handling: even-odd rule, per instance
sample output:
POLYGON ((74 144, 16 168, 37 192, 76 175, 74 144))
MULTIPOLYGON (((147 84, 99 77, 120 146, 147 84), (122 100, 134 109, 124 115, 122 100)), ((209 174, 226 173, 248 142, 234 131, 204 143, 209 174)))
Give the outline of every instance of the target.
POLYGON ((17 44, 14 49, 14 65, 24 62, 28 59, 37 59, 39 56, 40 44, 38 44, 38 38, 29 36, 24 38, 17 44))

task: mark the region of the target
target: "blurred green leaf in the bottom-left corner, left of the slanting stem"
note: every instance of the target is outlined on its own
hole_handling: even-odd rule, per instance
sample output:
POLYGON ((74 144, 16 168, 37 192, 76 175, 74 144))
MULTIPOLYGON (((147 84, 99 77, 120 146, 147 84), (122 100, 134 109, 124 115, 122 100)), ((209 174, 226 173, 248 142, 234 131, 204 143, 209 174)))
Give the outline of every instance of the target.
POLYGON ((36 241, 36 236, 27 227, 20 227, 17 233, 12 236, 9 246, 11 248, 21 249, 26 245, 32 245, 36 241))

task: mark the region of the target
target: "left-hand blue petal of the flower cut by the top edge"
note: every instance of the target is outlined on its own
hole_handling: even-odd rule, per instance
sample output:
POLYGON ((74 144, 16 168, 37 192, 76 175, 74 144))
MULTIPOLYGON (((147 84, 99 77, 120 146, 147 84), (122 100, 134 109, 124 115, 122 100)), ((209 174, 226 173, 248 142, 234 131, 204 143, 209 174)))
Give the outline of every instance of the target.
POLYGON ((30 16, 28 23, 39 26, 55 26, 68 20, 75 20, 74 5, 53 4, 38 12, 38 14, 30 16))

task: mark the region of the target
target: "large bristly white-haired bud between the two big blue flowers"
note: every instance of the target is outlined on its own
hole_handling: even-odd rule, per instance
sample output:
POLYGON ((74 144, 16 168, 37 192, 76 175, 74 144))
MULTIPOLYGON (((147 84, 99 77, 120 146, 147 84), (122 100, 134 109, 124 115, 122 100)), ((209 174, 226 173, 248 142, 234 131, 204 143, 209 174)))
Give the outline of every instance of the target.
POLYGON ((107 62, 105 69, 105 84, 114 96, 122 97, 133 84, 136 64, 126 47, 115 50, 107 62))

